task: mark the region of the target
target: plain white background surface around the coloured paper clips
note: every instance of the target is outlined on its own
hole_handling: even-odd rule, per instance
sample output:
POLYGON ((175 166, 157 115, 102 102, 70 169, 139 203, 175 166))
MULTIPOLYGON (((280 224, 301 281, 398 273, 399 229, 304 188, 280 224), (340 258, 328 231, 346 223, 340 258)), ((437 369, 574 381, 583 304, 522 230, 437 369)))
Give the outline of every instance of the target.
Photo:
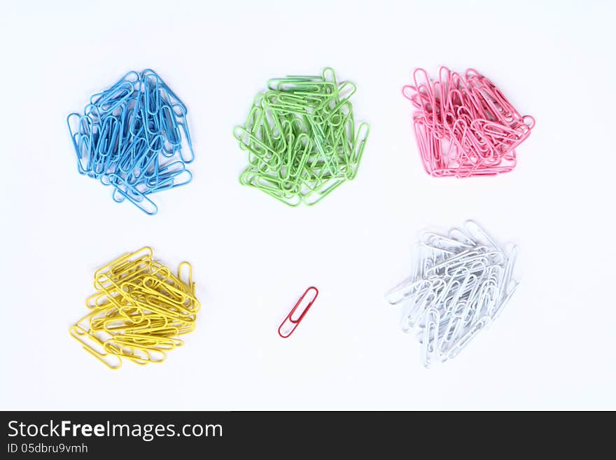
POLYGON ((7 1, 1 408, 616 409, 614 45, 609 1, 7 1), (474 67, 537 124, 514 172, 433 179, 400 94, 474 67), (371 125, 355 181, 292 209, 237 181, 232 137, 268 78, 331 66, 371 125), (195 179, 146 216, 76 170, 65 118, 128 70, 186 102, 195 179), (474 218, 519 244, 497 323, 426 370, 385 291, 421 230, 474 218), (161 365, 111 371, 68 328, 94 270, 150 245, 193 263, 203 309, 161 365), (307 286, 295 334, 276 328, 307 286))

